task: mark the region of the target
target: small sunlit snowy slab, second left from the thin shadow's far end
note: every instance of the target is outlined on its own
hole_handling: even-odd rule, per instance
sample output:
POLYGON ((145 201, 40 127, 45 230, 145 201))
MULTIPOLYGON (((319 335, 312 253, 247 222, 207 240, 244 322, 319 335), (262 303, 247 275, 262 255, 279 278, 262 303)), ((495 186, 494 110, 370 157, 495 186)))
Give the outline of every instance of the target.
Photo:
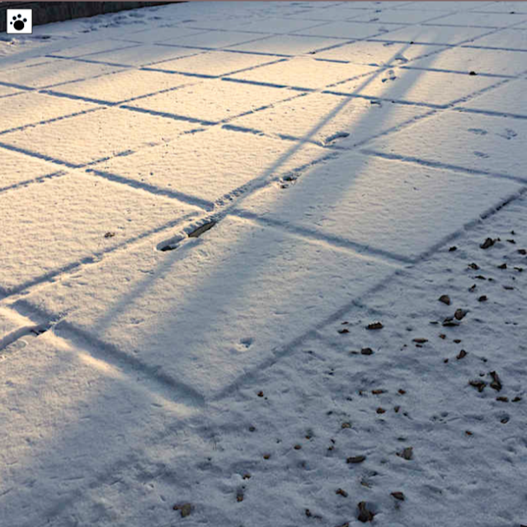
POLYGON ((252 69, 277 60, 273 57, 252 55, 246 53, 233 53, 228 51, 208 51, 193 57, 167 60, 156 64, 152 68, 175 73, 194 73, 209 77, 229 75, 236 71, 252 69))

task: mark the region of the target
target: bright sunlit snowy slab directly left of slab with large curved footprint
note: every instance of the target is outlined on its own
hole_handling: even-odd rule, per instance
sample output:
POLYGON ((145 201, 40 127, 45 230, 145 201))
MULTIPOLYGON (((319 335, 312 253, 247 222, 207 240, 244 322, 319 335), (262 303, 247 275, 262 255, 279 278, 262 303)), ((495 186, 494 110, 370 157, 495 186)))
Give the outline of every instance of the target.
MULTIPOLYGON (((159 75, 166 75, 166 73, 159 73, 159 75)), ((188 119, 219 122, 243 113, 255 112, 258 108, 270 106, 298 95, 288 89, 256 86, 246 82, 229 82, 219 79, 200 80, 183 76, 180 78, 184 78, 187 84, 193 81, 194 84, 176 91, 144 97, 130 102, 127 106, 179 115, 188 119)))

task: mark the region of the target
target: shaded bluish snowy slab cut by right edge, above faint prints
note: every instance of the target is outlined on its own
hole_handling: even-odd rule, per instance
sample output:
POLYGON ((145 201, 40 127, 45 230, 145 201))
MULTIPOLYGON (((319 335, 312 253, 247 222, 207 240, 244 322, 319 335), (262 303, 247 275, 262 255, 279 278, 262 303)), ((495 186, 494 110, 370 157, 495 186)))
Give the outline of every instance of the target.
POLYGON ((508 113, 527 117, 526 93, 527 80, 512 80, 460 104, 459 108, 471 108, 492 113, 508 113))

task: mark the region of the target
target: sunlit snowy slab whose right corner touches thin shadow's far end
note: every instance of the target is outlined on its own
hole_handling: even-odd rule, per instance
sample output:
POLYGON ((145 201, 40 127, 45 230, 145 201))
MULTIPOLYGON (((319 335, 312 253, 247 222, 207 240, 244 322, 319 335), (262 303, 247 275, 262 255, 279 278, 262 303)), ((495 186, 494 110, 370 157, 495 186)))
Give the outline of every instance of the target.
POLYGON ((375 69, 371 66, 338 64, 309 57, 295 57, 264 68, 242 71, 230 76, 233 79, 268 82, 299 89, 320 89, 335 82, 364 75, 364 73, 372 73, 375 69))

